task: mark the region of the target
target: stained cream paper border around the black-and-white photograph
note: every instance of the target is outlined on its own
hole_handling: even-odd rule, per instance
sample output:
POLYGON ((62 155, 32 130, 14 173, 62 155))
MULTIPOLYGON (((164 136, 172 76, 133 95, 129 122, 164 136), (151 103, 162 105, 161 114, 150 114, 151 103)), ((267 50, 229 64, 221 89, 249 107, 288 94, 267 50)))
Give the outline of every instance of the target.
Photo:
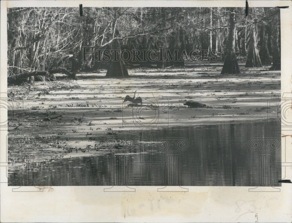
MULTIPOLYGON (((1 1, 2 93, 7 92, 7 7, 76 7, 79 13, 79 4, 83 7, 245 7, 246 1, 1 1)), ((281 101, 291 103, 292 2, 255 0, 248 1, 248 5, 289 6, 280 9, 281 101)), ((291 113, 287 118, 292 123, 291 113)), ((7 112, 1 110, 0 119, 0 122, 6 120, 7 112)), ((291 180, 292 127, 281 129, 282 178, 291 180)), ((7 178, 6 137, 7 129, 1 128, 0 182, 7 178)), ((291 222, 292 193, 288 183, 282 183, 277 193, 251 193, 250 187, 188 187, 188 192, 157 192, 154 186, 135 186, 132 193, 104 193, 104 186, 41 187, 37 189, 41 193, 14 193, 12 188, 0 184, 1 222, 291 222)))

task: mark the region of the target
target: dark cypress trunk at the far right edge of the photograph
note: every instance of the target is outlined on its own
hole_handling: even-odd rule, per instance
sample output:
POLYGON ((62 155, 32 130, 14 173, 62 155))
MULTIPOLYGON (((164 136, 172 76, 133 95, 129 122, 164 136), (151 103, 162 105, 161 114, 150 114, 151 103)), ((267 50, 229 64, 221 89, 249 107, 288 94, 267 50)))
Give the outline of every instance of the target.
POLYGON ((272 56, 273 56, 273 65, 270 70, 281 70, 281 50, 280 50, 280 43, 279 43, 279 27, 276 26, 273 30, 274 35, 272 37, 272 56))

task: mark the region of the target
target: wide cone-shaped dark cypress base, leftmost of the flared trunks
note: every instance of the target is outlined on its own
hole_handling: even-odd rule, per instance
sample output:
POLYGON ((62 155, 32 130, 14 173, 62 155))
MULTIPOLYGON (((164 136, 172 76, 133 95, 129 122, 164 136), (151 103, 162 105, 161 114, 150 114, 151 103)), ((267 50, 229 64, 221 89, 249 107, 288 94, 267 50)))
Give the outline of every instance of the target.
POLYGON ((111 62, 109 63, 109 68, 107 69, 107 78, 127 78, 129 77, 127 68, 124 64, 124 61, 121 60, 119 53, 117 53, 117 60, 113 61, 114 52, 111 55, 111 62))

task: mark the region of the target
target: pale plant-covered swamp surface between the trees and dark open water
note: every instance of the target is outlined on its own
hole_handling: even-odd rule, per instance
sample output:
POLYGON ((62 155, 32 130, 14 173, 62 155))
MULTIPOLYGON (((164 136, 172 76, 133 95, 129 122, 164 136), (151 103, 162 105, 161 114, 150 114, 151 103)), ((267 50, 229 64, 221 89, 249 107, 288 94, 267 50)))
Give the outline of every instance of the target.
POLYGON ((11 86, 8 92, 20 93, 9 103, 20 109, 15 109, 8 127, 12 130, 8 135, 8 162, 17 163, 18 153, 9 143, 14 138, 41 138, 44 146, 37 151, 40 156, 36 161, 45 161, 68 157, 65 150, 70 148, 81 148, 73 151, 74 157, 88 156, 88 148, 94 151, 106 138, 125 136, 129 130, 277 121, 281 114, 277 107, 281 73, 241 69, 240 75, 220 75, 221 67, 211 71, 208 67, 175 68, 169 72, 129 69, 129 81, 104 78, 103 71, 78 74, 78 80, 61 79, 45 85, 36 82, 32 93, 27 94, 21 93, 20 86, 11 86), (143 106, 132 110, 123 99, 126 95, 133 97, 135 91, 143 106), (269 100, 273 104, 267 107, 269 100), (208 107, 186 108, 183 104, 187 101, 208 107))

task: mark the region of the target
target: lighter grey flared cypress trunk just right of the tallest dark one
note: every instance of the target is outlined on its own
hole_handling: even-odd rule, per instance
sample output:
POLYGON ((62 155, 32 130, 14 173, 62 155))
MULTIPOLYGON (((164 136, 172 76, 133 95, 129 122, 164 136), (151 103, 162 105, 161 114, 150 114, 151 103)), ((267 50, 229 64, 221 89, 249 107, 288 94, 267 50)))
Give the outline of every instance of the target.
POLYGON ((251 25, 249 36, 248 55, 245 67, 262 67, 260 55, 258 54, 255 25, 251 25))

